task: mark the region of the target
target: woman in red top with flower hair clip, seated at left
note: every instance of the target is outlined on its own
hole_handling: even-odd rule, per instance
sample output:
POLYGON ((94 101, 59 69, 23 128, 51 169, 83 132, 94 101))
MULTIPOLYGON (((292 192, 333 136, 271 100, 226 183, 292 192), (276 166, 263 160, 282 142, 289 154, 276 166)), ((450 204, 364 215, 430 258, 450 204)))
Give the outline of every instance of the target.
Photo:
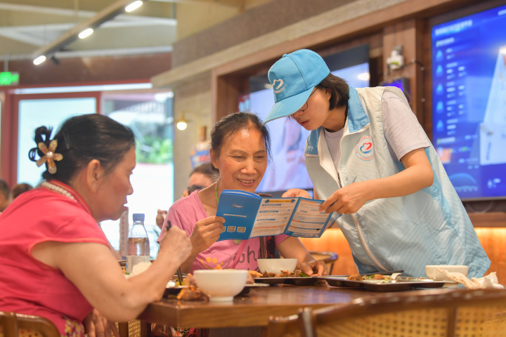
POLYGON ((190 240, 171 228, 153 265, 126 279, 97 223, 117 220, 134 192, 134 133, 84 114, 50 138, 51 130, 37 128, 29 154, 46 163, 46 181, 1 214, 0 311, 46 317, 66 337, 108 336, 115 324, 99 331, 104 321, 128 322, 162 298, 190 256, 190 240))

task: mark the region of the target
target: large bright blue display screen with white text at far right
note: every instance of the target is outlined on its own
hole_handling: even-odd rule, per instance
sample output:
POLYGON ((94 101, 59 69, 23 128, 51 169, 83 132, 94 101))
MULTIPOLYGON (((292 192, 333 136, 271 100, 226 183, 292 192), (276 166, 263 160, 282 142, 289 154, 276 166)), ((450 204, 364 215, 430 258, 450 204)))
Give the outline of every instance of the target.
POLYGON ((506 6, 432 27, 432 134, 462 199, 506 196, 506 6))

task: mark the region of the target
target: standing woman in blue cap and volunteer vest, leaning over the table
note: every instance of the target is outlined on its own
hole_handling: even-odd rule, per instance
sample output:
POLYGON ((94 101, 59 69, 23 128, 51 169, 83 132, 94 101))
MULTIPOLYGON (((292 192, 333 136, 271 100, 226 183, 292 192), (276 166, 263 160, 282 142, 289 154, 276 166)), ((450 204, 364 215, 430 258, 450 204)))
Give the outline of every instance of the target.
MULTIPOLYGON (((334 212, 362 273, 467 265, 482 277, 490 260, 438 154, 403 93, 352 88, 317 53, 285 54, 268 72, 275 105, 266 122, 292 117, 311 131, 306 167, 321 210, 334 212)), ((284 197, 306 196, 288 190, 284 197)))

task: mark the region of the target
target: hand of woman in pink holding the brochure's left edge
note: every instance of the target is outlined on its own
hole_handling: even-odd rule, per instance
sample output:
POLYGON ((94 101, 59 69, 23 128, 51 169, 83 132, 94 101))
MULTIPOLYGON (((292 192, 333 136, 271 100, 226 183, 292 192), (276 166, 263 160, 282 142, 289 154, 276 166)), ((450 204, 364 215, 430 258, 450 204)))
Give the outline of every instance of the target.
POLYGON ((221 232, 223 232, 223 223, 225 223, 225 219, 221 216, 209 216, 195 223, 195 228, 190 235, 193 246, 192 255, 196 256, 218 241, 221 232))

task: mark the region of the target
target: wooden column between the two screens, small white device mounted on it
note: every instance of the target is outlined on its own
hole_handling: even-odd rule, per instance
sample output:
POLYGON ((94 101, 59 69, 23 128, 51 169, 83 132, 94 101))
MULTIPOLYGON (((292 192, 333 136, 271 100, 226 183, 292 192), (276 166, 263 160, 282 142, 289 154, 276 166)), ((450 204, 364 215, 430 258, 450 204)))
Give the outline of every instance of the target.
MULTIPOLYGON (((411 110, 416 115, 422 126, 424 125, 424 106, 423 97, 423 76, 422 63, 424 51, 422 48, 422 35, 426 23, 420 19, 410 19, 398 22, 384 28, 383 35, 383 72, 384 81, 392 81, 398 77, 408 77, 410 82, 410 105, 411 110), (403 55, 406 65, 398 70, 388 70, 387 58, 389 58, 392 49, 395 46, 403 46, 403 55), (413 62, 416 60, 417 62, 413 62)), ((425 71, 427 72, 427 71, 425 71)), ((427 91, 425 91, 427 95, 427 91)))

